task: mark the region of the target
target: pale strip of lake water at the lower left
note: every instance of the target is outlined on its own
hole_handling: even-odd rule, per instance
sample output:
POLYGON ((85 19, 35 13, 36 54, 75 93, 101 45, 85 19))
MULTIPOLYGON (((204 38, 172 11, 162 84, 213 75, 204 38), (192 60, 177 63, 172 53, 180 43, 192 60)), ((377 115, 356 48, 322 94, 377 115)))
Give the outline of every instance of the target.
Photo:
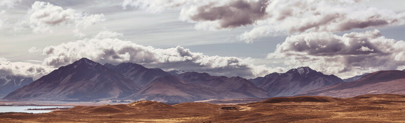
MULTIPOLYGON (((27 109, 45 109, 56 108, 57 106, 0 106, 0 112, 26 112, 26 113, 48 113, 50 110, 27 110, 27 109)), ((67 107, 59 107, 67 108, 67 107)))

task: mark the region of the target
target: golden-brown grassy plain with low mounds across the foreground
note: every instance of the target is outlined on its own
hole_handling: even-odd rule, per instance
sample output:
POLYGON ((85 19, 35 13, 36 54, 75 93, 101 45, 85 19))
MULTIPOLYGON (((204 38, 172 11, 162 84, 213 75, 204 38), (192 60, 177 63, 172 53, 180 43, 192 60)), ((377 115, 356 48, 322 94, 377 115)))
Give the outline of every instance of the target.
POLYGON ((4 114, 0 122, 405 122, 405 96, 275 97, 238 105, 138 101, 77 106, 43 114, 4 114), (222 110, 236 107, 237 110, 222 110))

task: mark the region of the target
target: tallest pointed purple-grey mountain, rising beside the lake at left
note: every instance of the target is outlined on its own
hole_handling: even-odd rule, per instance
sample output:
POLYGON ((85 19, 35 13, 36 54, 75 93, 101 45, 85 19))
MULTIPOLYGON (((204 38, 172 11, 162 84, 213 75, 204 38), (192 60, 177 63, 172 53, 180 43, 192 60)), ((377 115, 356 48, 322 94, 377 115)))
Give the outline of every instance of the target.
POLYGON ((4 99, 9 100, 98 100, 124 97, 140 90, 119 73, 87 58, 60 67, 4 99))

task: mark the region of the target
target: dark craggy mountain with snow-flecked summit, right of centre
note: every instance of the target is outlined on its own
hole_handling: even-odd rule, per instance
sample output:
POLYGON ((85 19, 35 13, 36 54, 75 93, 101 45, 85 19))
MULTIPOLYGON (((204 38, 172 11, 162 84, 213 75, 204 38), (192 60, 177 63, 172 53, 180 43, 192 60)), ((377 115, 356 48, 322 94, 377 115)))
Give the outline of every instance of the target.
POLYGON ((325 75, 309 67, 291 69, 286 73, 272 73, 265 77, 251 79, 253 83, 267 92, 271 97, 291 96, 320 87, 343 83, 335 75, 325 75))

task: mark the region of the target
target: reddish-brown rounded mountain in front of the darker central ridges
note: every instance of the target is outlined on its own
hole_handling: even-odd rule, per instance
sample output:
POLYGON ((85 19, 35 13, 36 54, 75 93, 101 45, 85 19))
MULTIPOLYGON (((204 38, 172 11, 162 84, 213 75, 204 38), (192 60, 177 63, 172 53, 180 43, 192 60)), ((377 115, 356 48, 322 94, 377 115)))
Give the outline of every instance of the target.
POLYGON ((207 86, 186 83, 174 75, 167 75, 154 79, 150 85, 124 99, 179 103, 195 100, 248 97, 239 93, 220 91, 207 86))

